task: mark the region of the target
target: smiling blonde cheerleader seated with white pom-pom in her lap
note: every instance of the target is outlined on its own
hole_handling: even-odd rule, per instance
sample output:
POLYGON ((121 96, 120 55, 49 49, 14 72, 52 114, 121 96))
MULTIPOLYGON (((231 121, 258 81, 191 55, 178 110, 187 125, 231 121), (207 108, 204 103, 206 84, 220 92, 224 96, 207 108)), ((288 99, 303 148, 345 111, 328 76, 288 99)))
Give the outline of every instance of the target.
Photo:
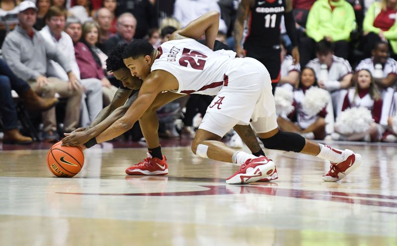
POLYGON ((371 72, 367 69, 359 70, 355 86, 348 90, 343 101, 342 111, 347 114, 341 113, 339 114, 340 116, 338 115, 335 123, 335 132, 331 134, 332 139, 380 141, 383 133, 383 128, 379 124, 382 115, 382 104, 382 98, 376 88, 371 72), (354 115, 349 115, 347 112, 349 108, 358 108, 359 110, 350 110, 348 112, 354 115), (370 121, 368 121, 368 118, 370 118, 370 121), (346 127, 346 125, 349 127, 346 127))

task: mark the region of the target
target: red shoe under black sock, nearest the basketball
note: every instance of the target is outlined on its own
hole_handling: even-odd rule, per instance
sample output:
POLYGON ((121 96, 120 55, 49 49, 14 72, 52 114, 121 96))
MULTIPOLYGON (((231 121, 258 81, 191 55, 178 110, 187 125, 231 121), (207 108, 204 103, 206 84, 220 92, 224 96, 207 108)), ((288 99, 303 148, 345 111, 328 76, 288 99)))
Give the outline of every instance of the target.
POLYGON ((132 167, 126 169, 126 174, 129 175, 167 175, 168 165, 167 159, 163 155, 163 160, 153 158, 149 153, 146 153, 147 158, 143 159, 132 167))

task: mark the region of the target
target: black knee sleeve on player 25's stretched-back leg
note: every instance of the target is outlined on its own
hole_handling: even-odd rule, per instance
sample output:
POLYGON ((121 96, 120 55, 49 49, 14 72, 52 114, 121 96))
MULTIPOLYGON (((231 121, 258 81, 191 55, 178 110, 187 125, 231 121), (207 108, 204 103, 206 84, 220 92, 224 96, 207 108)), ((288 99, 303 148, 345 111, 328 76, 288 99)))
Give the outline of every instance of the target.
POLYGON ((306 139, 292 132, 278 131, 274 136, 261 138, 267 149, 277 149, 284 151, 301 152, 305 147, 306 139))

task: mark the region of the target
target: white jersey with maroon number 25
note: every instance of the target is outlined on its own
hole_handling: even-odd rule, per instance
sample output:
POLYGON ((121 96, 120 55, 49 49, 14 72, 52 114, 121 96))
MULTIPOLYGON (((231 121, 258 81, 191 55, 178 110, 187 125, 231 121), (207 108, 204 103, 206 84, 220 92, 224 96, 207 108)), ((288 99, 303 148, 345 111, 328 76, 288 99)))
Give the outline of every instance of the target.
POLYGON ((194 39, 171 40, 158 50, 161 55, 151 71, 172 73, 179 83, 177 93, 216 95, 228 79, 228 63, 236 56, 232 51, 212 51, 194 39))

